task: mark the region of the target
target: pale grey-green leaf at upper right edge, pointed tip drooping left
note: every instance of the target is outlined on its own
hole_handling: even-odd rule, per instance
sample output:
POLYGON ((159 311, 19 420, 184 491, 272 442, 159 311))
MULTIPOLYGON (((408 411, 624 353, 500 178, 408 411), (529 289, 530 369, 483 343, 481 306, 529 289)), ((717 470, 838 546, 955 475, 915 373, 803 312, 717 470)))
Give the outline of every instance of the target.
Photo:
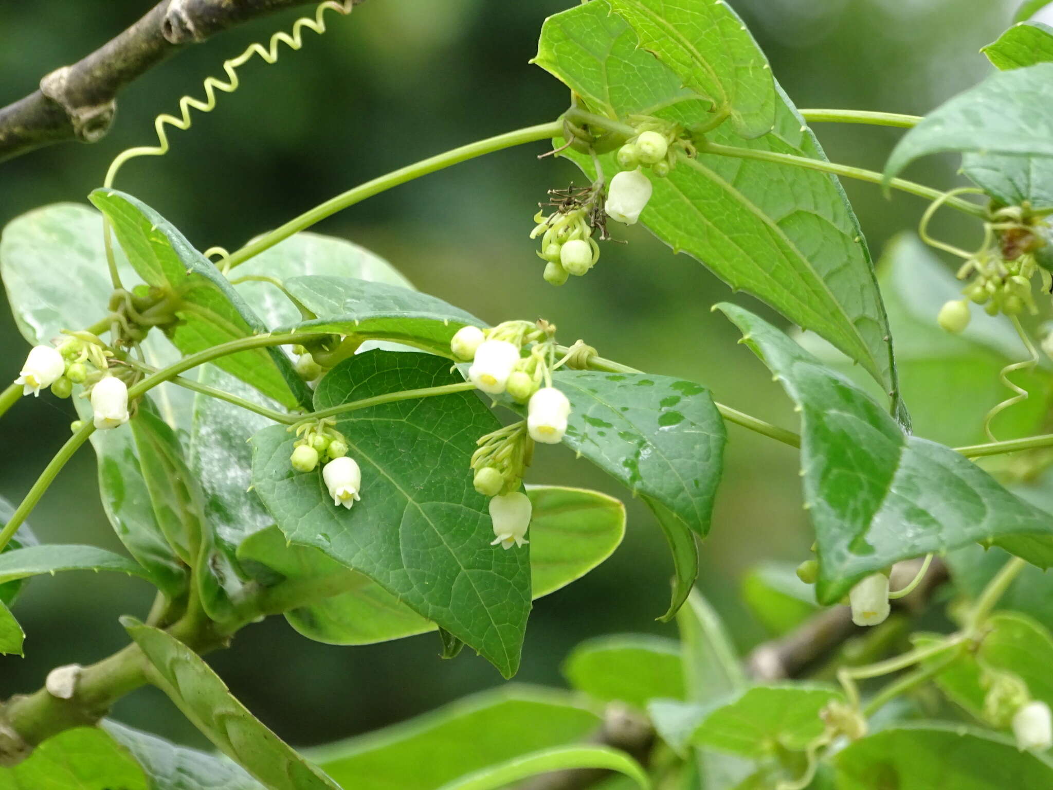
POLYGON ((1053 63, 992 74, 946 101, 899 140, 886 180, 915 159, 940 152, 1053 157, 1053 63))

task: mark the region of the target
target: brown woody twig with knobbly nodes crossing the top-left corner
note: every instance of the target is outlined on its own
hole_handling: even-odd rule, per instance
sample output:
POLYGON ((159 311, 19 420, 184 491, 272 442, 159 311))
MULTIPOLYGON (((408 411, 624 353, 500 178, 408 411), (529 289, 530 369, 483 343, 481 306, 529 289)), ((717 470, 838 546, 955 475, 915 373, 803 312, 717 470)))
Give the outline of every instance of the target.
POLYGON ((87 57, 45 75, 39 90, 0 107, 0 161, 64 140, 100 140, 113 123, 117 94, 162 60, 242 22, 312 1, 162 0, 87 57))

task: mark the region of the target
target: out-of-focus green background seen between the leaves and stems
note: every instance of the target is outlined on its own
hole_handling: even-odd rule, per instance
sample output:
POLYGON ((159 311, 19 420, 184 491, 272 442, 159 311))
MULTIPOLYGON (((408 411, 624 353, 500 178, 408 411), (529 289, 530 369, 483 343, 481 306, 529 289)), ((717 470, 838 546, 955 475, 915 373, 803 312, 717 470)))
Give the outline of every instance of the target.
MULTIPOLYGON (((212 115, 173 133, 163 159, 138 159, 118 186, 142 198, 199 249, 234 249, 249 237, 356 183, 480 137, 555 118, 567 91, 528 60, 544 17, 573 0, 369 0, 351 18, 330 17, 323 38, 279 63, 254 60, 243 86, 220 96, 212 115)), ((977 54, 1008 25, 1009 0, 736 0, 801 107, 839 106, 922 114, 981 78, 977 54)), ((146 0, 0 3, 0 104, 33 91, 41 75, 125 27, 146 0)), ((124 147, 153 143, 153 117, 249 42, 287 28, 283 14, 221 36, 156 68, 120 99, 117 122, 95 145, 67 143, 0 164, 0 224, 35 206, 83 201, 124 147)), ((835 161, 880 170, 894 130, 823 125, 835 161)), ((421 290, 497 322, 543 316, 564 342, 578 337, 604 356, 709 386, 718 400, 793 427, 789 401, 710 305, 731 296, 697 261, 673 256, 640 228, 616 231, 587 278, 553 289, 528 239, 547 189, 581 178, 568 162, 526 146, 475 160, 375 197, 319 230, 372 248, 421 290)), ((955 183, 956 162, 931 159, 910 174, 955 183)), ((886 200, 846 183, 875 255, 914 228, 923 204, 886 200)), ((955 235, 957 218, 934 224, 955 235)), ((961 238, 959 236, 959 238, 961 238)), ((965 241, 968 241, 966 239, 965 241)), ((55 260, 55 276, 62 260, 55 260)), ((746 296, 736 300, 750 302, 746 296)), ((752 304, 750 307, 756 307, 752 304)), ((14 378, 26 347, 0 317, 0 377, 14 378)), ((27 399, 0 422, 0 495, 18 501, 64 440, 68 403, 27 399)), ((743 648, 763 637, 737 603, 743 572, 761 558, 804 558, 812 538, 800 508, 796 454, 735 427, 713 531, 702 547, 703 592, 727 615, 743 648)), ((673 633, 655 621, 668 600, 670 559, 653 519, 602 474, 558 448, 538 452, 532 482, 597 488, 627 500, 629 535, 607 564, 535 606, 518 679, 559 684, 577 640, 612 631, 673 633)), ((95 461, 82 451, 31 519, 51 542, 119 545, 98 501, 95 461)), ((0 659, 0 695, 39 687, 49 668, 97 660, 122 646, 122 613, 151 603, 140 582, 69 574, 29 585, 16 606, 26 657, 0 659)), ((438 658, 434 634, 367 648, 337 648, 295 634, 280 618, 243 631, 210 658, 260 718, 298 745, 396 722, 501 683, 465 651, 438 658)), ((177 740, 202 744, 167 699, 150 690, 123 700, 117 717, 177 740)))

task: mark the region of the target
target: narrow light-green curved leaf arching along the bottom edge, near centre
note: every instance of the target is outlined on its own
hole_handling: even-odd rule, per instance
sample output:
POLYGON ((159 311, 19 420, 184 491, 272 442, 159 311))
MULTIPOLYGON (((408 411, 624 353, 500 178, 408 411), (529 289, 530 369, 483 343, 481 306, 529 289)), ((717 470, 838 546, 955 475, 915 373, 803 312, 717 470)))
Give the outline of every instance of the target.
POLYGON ((647 772, 623 751, 609 746, 556 746, 514 757, 498 766, 483 768, 443 785, 440 790, 499 790, 539 773, 579 768, 618 771, 635 779, 643 790, 651 788, 651 779, 647 772))

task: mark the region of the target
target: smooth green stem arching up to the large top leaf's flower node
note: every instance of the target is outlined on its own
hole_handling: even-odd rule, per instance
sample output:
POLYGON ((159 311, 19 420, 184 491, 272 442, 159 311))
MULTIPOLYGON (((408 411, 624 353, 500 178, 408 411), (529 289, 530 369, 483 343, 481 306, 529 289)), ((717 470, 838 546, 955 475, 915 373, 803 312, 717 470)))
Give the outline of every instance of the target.
POLYGON ((479 140, 468 145, 461 145, 458 149, 453 149, 452 151, 439 154, 438 156, 422 159, 415 164, 410 164, 405 167, 392 171, 391 173, 380 176, 379 178, 374 178, 372 181, 366 181, 353 190, 347 190, 347 192, 326 200, 324 203, 321 203, 311 211, 301 214, 299 217, 290 220, 280 228, 263 234, 255 241, 245 244, 243 248, 233 253, 230 258, 222 261, 222 266, 225 271, 230 271, 234 266, 244 263, 253 256, 259 255, 264 250, 270 250, 279 241, 287 239, 293 234, 311 228, 311 225, 325 219, 325 217, 336 214, 337 212, 342 211, 350 205, 354 205, 367 197, 381 193, 384 190, 390 190, 393 186, 398 186, 406 181, 412 181, 415 178, 426 176, 430 173, 435 173, 443 167, 449 167, 452 164, 458 164, 459 162, 473 159, 477 156, 492 154, 495 151, 509 149, 513 145, 522 145, 523 143, 537 142, 539 140, 558 137, 562 134, 562 131, 563 123, 561 120, 552 121, 550 123, 541 123, 537 126, 526 126, 525 129, 518 129, 514 132, 497 135, 496 137, 488 137, 485 140, 479 140))

